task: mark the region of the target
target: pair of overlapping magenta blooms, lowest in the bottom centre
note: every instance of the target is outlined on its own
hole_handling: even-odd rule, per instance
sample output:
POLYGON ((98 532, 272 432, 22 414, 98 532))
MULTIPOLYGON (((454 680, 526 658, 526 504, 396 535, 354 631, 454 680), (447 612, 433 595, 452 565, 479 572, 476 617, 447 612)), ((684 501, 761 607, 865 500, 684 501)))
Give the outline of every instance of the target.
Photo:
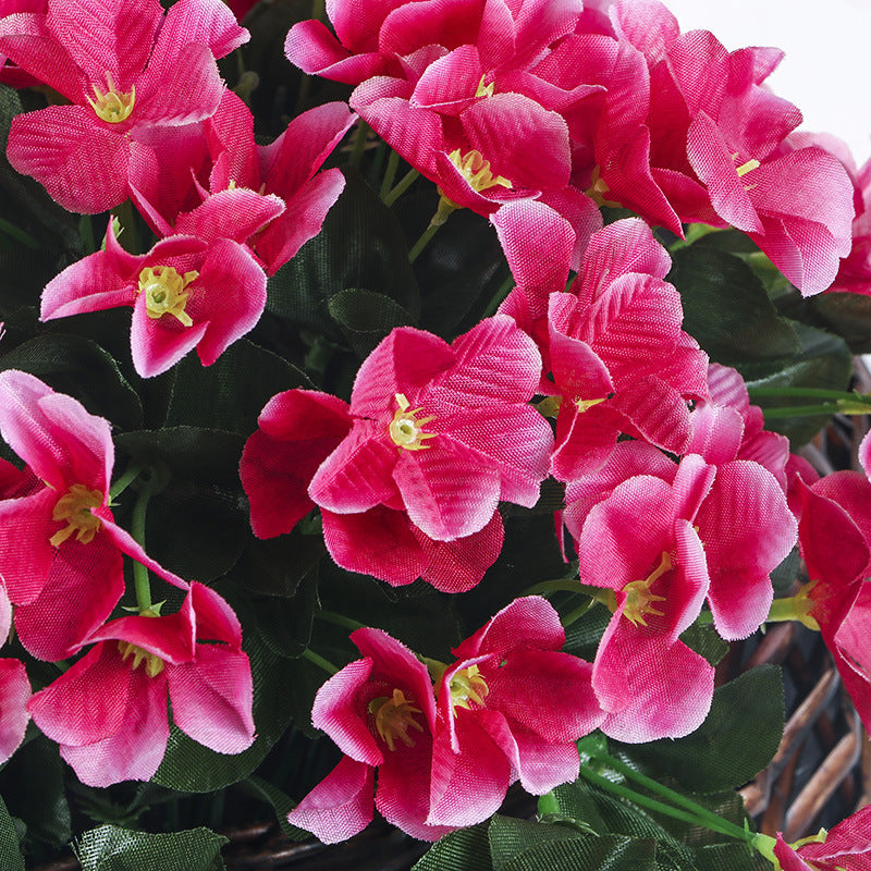
POLYGON ((542 599, 503 609, 455 651, 427 661, 379 629, 352 634, 364 659, 324 684, 311 720, 345 753, 289 820, 335 843, 375 806, 426 841, 493 814, 508 785, 543 794, 578 773, 574 743, 602 712, 589 664, 559 652, 565 636, 542 599), (436 677, 433 689, 430 673, 436 677))

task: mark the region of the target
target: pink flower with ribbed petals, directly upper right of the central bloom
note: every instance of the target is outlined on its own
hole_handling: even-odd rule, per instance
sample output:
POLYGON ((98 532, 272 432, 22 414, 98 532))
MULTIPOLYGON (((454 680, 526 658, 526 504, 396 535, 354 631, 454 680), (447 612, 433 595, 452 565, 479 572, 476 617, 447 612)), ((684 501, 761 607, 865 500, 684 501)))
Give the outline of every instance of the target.
POLYGON ((626 219, 593 233, 564 293, 566 222, 538 203, 504 206, 492 221, 517 281, 501 311, 536 336, 553 378, 540 391, 561 397, 554 477, 600 467, 621 433, 685 453, 687 403, 707 395, 708 357, 682 330, 680 297, 664 281, 671 260, 650 229, 626 219), (536 226, 547 254, 529 249, 536 226))

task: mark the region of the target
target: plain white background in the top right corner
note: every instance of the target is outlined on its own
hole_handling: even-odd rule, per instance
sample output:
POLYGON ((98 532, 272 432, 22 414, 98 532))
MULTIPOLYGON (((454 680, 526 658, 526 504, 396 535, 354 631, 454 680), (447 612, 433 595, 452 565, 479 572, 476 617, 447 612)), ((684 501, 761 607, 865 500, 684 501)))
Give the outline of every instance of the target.
POLYGON ((682 30, 711 30, 729 50, 786 52, 766 79, 805 115, 799 130, 834 133, 857 164, 871 157, 871 0, 664 0, 682 30))

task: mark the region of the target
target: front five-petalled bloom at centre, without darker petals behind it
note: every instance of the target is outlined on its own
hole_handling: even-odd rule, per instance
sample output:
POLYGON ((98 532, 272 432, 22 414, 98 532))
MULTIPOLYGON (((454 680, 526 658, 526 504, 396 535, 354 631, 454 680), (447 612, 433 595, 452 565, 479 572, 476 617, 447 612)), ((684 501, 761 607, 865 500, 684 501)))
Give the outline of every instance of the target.
POLYGON ((449 345, 394 330, 360 366, 352 428, 308 488, 321 508, 405 511, 437 541, 483 529, 501 500, 531 507, 553 437, 528 405, 541 372, 533 342, 489 318, 449 345))

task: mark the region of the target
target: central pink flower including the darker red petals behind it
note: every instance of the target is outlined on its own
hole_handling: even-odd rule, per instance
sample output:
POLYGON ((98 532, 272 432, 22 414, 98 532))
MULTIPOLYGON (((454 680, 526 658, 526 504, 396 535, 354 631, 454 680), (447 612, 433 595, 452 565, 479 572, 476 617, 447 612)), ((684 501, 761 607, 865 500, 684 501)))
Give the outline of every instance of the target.
POLYGON ((273 396, 240 464, 255 535, 289 532, 318 505, 342 567, 394 586, 422 577, 445 592, 470 589, 502 548, 498 502, 533 504, 544 477, 550 428, 526 405, 538 367, 507 319, 453 346, 405 328, 364 363, 351 406, 311 391, 273 396), (434 419, 412 410, 409 396, 434 419))

